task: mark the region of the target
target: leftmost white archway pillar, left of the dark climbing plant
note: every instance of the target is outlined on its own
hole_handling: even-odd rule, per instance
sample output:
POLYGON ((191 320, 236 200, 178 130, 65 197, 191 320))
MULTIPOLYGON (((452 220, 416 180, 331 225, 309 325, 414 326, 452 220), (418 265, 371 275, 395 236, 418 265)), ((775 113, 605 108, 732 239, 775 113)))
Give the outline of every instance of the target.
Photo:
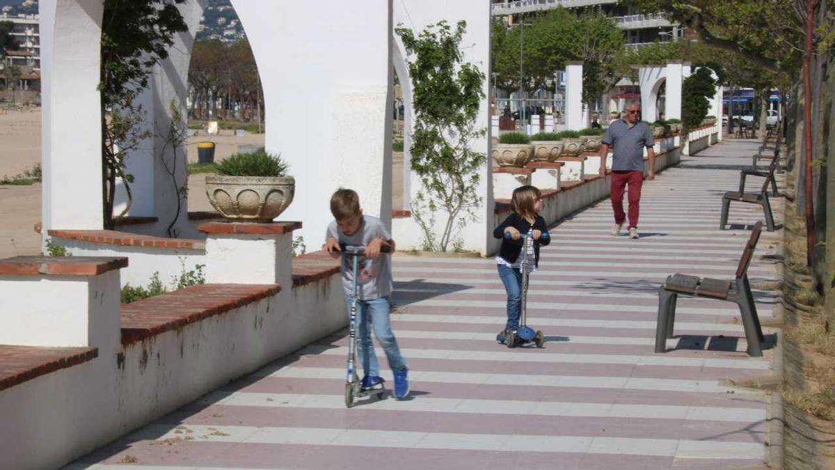
POLYGON ((101 0, 41 0, 43 233, 103 227, 101 0))

